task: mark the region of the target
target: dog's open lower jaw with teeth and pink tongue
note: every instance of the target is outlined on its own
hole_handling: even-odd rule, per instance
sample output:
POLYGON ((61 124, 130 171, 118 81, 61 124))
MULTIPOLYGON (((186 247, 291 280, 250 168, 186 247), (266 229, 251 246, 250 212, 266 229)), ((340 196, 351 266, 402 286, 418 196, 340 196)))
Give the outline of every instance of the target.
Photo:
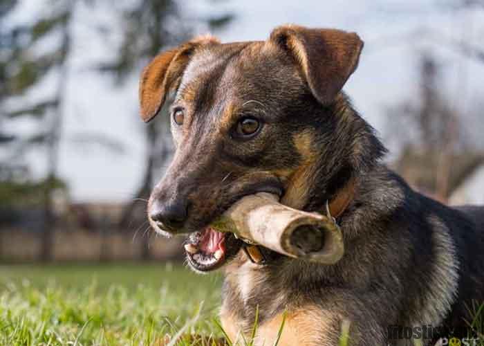
POLYGON ((232 233, 221 233, 207 226, 187 237, 187 262, 198 273, 214 271, 234 257, 242 244, 232 233))

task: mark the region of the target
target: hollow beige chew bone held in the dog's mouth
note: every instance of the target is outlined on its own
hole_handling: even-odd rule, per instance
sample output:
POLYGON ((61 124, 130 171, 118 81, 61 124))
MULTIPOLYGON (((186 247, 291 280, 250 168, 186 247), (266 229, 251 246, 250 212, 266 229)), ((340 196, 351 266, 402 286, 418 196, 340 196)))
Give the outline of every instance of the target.
POLYGON ((344 254, 341 230, 332 217, 296 210, 259 192, 234 203, 211 225, 283 255, 334 264, 344 254))

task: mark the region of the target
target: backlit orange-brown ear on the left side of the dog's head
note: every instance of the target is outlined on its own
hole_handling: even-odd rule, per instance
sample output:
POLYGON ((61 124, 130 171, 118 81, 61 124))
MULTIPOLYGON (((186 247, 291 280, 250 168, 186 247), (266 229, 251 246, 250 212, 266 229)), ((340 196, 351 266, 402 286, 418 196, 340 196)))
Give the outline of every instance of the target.
POLYGON ((155 57, 142 72, 140 80, 141 118, 145 122, 160 111, 170 89, 178 88, 180 78, 196 48, 218 44, 210 35, 198 37, 155 57))

